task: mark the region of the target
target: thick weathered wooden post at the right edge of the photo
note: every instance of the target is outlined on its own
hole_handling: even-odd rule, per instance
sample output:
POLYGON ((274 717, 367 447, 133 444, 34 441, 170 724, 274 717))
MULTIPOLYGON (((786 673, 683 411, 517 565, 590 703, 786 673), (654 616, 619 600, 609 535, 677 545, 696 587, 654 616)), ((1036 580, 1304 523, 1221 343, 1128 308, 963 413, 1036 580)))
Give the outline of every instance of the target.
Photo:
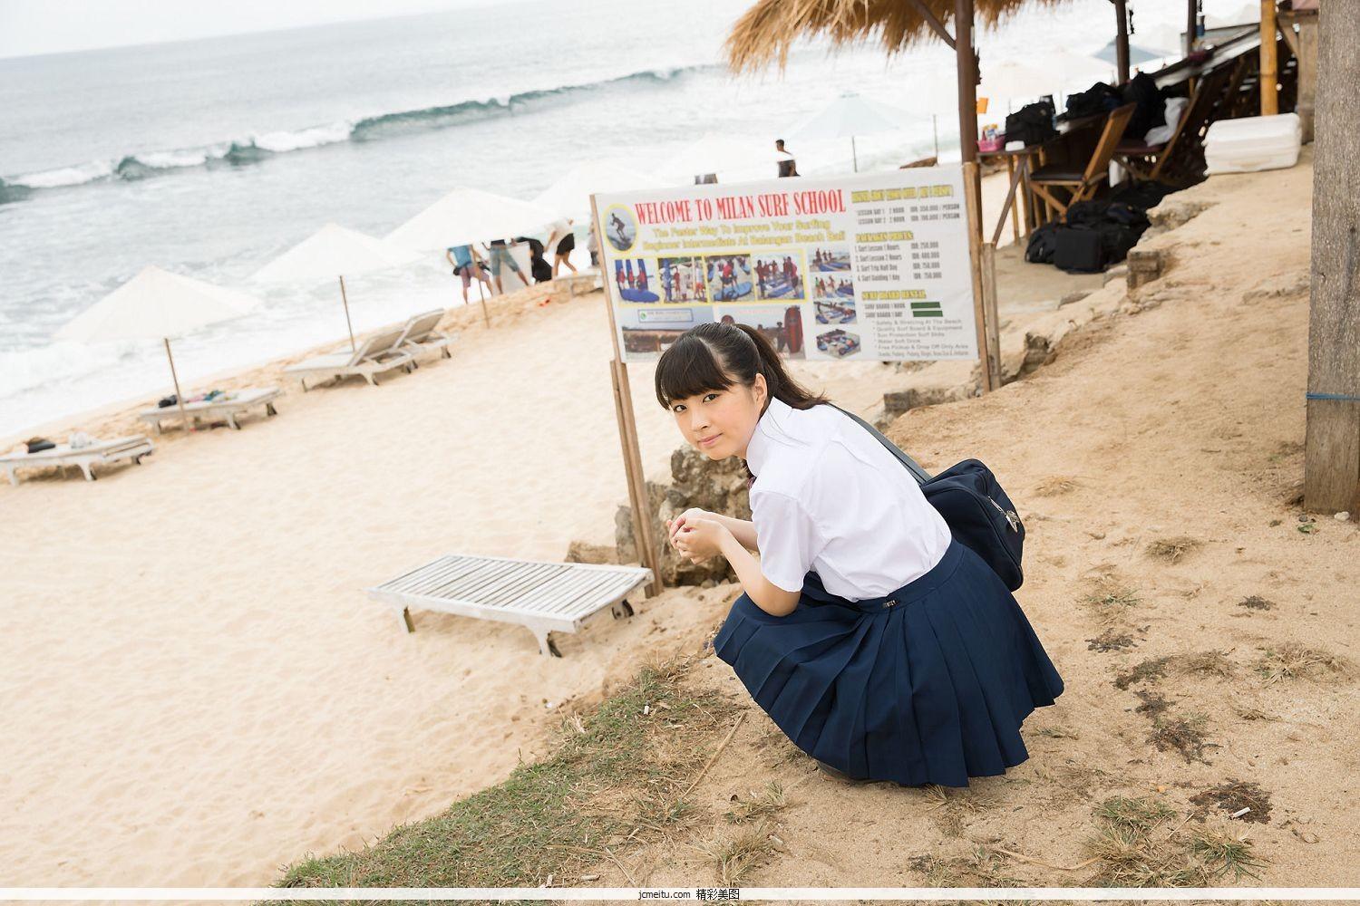
POLYGON ((1318 23, 1303 505, 1360 513, 1360 4, 1318 23))

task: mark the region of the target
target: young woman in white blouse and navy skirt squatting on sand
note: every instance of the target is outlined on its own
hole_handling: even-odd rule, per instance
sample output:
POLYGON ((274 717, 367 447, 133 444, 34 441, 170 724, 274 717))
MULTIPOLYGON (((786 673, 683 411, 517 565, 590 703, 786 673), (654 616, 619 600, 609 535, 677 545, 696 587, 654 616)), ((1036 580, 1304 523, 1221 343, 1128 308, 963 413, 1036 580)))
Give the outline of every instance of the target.
POLYGON ((745 325, 681 334, 656 394, 685 441, 753 475, 749 522, 687 509, 668 542, 737 573, 714 651, 798 748, 836 780, 906 786, 1028 758, 1020 727, 1062 679, 1006 584, 873 435, 745 325))

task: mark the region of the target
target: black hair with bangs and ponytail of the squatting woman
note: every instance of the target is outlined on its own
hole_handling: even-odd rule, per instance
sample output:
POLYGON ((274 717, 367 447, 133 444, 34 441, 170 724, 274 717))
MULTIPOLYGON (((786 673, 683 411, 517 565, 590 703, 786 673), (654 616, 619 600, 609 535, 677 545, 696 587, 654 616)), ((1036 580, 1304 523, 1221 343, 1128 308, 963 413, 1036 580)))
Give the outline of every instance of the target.
POLYGON ((688 399, 734 384, 749 387, 764 375, 772 399, 794 409, 827 402, 789 376, 770 341, 748 325, 709 323, 691 327, 661 353, 657 363, 657 402, 669 409, 688 399))

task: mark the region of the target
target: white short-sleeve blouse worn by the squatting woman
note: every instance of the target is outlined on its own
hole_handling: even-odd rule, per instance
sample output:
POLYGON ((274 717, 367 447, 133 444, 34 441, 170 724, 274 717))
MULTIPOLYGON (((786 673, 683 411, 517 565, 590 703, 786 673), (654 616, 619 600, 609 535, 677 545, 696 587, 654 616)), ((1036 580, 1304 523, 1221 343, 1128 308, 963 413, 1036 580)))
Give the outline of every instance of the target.
POLYGON ((816 572, 832 595, 880 598, 928 573, 949 527, 911 474, 831 406, 771 399, 747 447, 760 572, 785 591, 816 572))

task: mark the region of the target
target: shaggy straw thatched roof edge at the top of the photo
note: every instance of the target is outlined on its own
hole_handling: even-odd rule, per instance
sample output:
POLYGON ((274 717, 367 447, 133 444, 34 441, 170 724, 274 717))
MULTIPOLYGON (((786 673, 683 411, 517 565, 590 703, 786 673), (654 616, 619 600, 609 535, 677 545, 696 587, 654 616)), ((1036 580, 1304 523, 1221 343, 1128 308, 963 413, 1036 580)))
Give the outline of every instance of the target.
MULTIPOLYGON (((1066 0, 974 0, 976 24, 996 24, 1025 5, 1066 0)), ((953 0, 922 0, 953 34, 953 0)), ((778 61, 782 69, 800 38, 831 38, 845 46, 877 42, 888 54, 936 37, 913 0, 756 0, 728 35, 728 65, 755 72, 778 61)))

